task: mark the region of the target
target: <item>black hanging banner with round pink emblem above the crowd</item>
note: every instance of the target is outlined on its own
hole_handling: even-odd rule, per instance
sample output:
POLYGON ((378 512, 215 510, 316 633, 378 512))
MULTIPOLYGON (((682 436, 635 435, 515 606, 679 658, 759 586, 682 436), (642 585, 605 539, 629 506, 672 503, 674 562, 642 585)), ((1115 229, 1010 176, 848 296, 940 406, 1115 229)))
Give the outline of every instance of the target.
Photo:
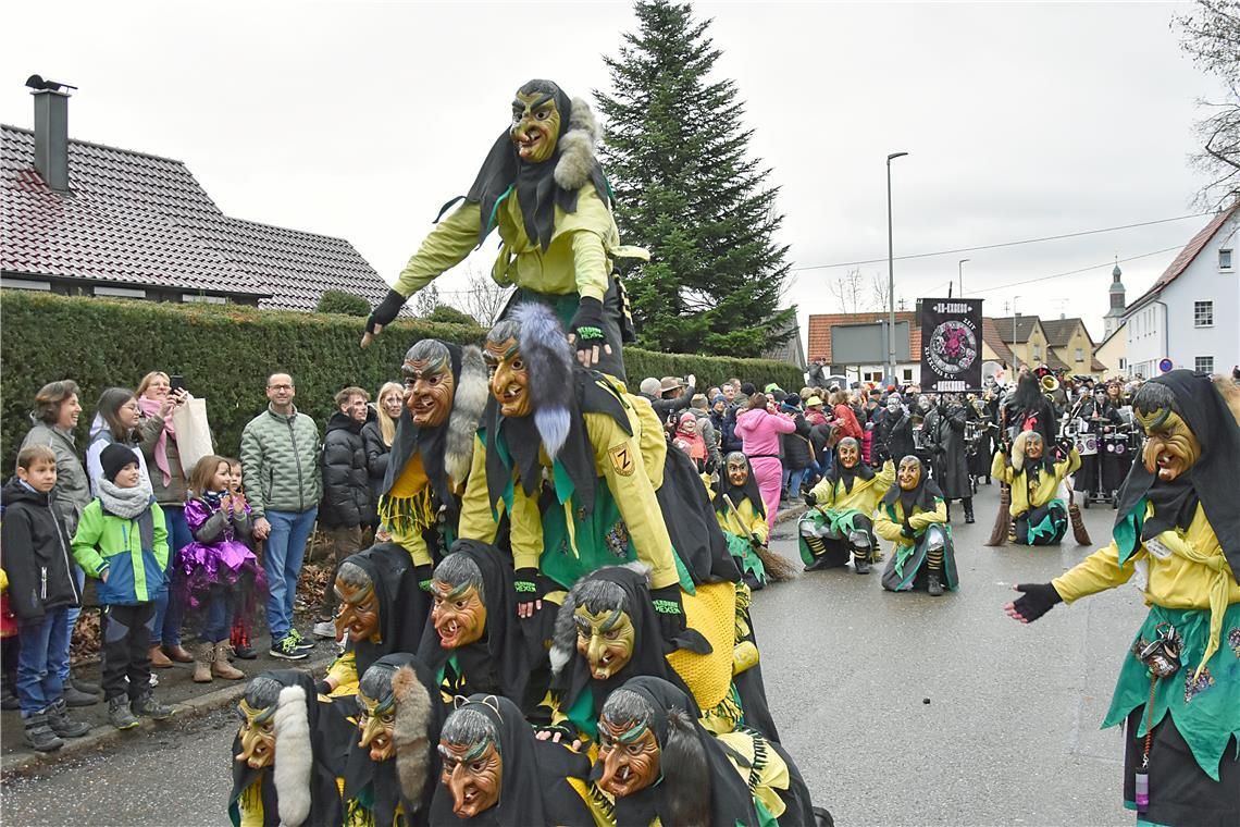
POLYGON ((982 300, 921 299, 921 389, 982 387, 982 300))

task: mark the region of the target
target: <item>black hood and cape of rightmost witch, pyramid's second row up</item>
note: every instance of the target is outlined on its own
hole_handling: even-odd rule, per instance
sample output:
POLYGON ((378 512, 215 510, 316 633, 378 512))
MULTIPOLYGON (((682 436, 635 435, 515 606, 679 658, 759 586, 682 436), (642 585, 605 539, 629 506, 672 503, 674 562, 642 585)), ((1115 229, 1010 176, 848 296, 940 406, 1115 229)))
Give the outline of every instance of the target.
POLYGON ((595 681, 594 676, 590 674, 589 661, 574 652, 568 663, 564 665, 563 671, 552 678, 552 688, 559 692, 560 710, 568 713, 583 692, 590 692, 594 703, 594 722, 596 723, 603 702, 611 691, 639 674, 650 674, 670 681, 692 698, 692 691, 663 657, 663 639, 658 631, 658 617, 655 614, 655 608, 650 603, 650 586, 646 585, 645 575, 622 565, 608 565, 584 579, 608 580, 615 583, 624 591, 626 610, 634 629, 632 657, 624 665, 622 670, 606 681, 595 681))

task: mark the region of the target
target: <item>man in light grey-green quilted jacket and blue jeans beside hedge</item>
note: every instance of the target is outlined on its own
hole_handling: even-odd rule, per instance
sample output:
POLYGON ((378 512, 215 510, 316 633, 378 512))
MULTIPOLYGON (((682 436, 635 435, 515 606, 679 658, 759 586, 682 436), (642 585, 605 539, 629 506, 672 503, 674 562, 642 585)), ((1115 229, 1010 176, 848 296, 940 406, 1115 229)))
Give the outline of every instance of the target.
POLYGON ((272 657, 300 661, 314 643, 293 627, 293 599, 301 574, 306 541, 322 497, 319 428, 293 404, 296 387, 288 373, 267 378, 267 410, 241 434, 246 496, 254 520, 254 538, 265 541, 267 625, 272 657))

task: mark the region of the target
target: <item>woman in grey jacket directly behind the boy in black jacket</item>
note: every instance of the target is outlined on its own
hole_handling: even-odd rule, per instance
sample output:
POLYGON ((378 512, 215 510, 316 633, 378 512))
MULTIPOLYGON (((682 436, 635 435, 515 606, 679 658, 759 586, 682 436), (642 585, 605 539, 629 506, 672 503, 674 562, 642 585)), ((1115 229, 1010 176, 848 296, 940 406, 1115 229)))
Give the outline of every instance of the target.
MULTIPOLYGON (((64 520, 64 528, 69 537, 77 531, 82 510, 91 502, 91 482, 82 460, 78 459, 77 444, 73 440, 73 430, 77 428, 78 417, 82 413, 78 393, 77 382, 73 379, 48 382, 40 388, 35 397, 35 412, 31 414, 35 427, 26 433, 25 439, 21 440, 21 448, 17 449, 47 445, 56 454, 56 487, 52 489, 51 496, 56 510, 64 520)), ((72 568, 81 591, 84 582, 82 567, 74 563, 72 568)), ((66 613, 71 636, 81 613, 82 610, 77 606, 66 613)), ((88 707, 99 702, 102 689, 98 684, 78 681, 73 677, 67 661, 61 673, 61 682, 64 684, 64 702, 68 705, 88 707)), ((5 708, 7 709, 7 707, 5 708)))

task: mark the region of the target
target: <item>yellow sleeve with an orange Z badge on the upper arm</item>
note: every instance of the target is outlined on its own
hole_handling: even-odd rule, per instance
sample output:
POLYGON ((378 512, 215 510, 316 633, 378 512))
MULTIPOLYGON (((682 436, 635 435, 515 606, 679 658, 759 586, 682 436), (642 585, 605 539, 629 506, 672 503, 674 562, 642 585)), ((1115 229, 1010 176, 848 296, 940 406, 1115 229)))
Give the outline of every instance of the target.
MULTIPOLYGON (((630 436, 608 414, 587 413, 585 429, 594 446, 594 464, 600 476, 606 480, 611 497, 620 508, 629 527, 637 559, 650 565, 650 585, 661 589, 680 582, 676 560, 672 557, 672 541, 663 524, 663 515, 655 498, 655 487, 650 484, 641 445, 636 436, 630 436)), ((635 417, 630 417, 634 423, 635 417)), ((636 425, 636 423, 634 423, 636 425)), ((636 428, 635 428, 636 429, 636 428)), ((539 528, 539 546, 542 531, 539 528)), ((516 516, 513 516, 512 554, 517 554, 516 516)), ((520 567, 518 567, 520 568, 520 567)))

